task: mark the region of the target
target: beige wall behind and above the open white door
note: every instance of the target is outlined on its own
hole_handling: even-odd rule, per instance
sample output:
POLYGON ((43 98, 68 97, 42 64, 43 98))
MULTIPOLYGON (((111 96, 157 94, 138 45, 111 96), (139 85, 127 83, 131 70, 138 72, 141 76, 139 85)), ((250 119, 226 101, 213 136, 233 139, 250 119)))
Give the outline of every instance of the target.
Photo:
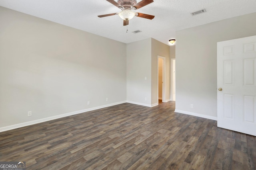
POLYGON ((252 13, 176 32, 176 111, 216 119, 217 42, 256 35, 255 18, 252 13))

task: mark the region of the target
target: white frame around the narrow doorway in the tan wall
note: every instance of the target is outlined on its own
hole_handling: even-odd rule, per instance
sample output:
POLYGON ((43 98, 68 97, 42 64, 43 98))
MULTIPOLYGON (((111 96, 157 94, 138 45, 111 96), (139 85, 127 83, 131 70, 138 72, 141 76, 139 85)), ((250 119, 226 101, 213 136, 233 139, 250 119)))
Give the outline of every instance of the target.
POLYGON ((158 67, 159 67, 159 63, 158 60, 159 59, 163 59, 163 72, 162 72, 162 79, 163 79, 163 83, 162 83, 162 102, 166 102, 166 95, 165 95, 165 91, 166 91, 166 58, 162 57, 160 55, 157 56, 157 103, 158 103, 158 98, 159 98, 159 94, 158 94, 158 67))

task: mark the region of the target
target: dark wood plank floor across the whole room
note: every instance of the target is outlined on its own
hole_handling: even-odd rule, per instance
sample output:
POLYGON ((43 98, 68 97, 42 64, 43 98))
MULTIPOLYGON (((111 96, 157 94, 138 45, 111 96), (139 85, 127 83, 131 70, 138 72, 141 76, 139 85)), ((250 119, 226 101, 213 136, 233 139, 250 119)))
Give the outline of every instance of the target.
POLYGON ((0 133, 0 161, 27 170, 255 170, 256 137, 217 122, 120 104, 0 133))

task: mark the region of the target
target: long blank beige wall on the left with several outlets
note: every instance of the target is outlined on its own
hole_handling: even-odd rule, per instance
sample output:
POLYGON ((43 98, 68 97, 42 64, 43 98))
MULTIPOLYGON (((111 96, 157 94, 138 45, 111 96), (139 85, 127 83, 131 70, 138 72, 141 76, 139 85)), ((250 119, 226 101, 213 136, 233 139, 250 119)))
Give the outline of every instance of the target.
POLYGON ((125 101, 125 43, 0 7, 0 128, 125 101))

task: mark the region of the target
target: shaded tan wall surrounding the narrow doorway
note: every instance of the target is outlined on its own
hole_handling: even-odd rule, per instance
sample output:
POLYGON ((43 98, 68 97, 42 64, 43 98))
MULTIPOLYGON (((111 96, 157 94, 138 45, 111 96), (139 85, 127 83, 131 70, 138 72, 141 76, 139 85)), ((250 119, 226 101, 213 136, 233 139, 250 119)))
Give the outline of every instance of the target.
POLYGON ((170 100, 170 47, 156 39, 152 38, 152 54, 151 54, 151 104, 154 106, 158 103, 158 81, 157 81, 157 70, 158 70, 158 56, 166 58, 166 86, 165 86, 165 96, 166 101, 170 100))

